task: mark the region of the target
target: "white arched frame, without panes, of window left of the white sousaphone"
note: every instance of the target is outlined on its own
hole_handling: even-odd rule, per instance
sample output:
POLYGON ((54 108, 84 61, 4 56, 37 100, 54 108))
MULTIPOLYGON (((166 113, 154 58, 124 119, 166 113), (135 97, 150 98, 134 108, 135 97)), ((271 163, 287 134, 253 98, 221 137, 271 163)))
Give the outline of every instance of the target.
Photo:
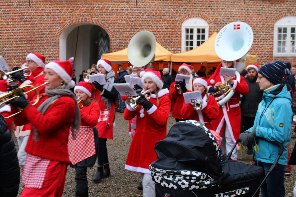
POLYGON ((202 18, 188 18, 182 24, 181 52, 185 52, 185 29, 193 28, 193 49, 197 46, 197 28, 205 28, 205 41, 209 38, 209 24, 202 18))

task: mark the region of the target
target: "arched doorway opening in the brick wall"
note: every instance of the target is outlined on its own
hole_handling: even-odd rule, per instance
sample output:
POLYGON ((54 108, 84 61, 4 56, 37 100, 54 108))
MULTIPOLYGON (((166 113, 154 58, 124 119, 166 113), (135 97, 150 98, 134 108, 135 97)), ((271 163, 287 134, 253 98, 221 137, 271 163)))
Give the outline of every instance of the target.
POLYGON ((77 23, 66 28, 60 36, 60 60, 75 57, 74 67, 78 82, 82 70, 97 64, 103 53, 109 53, 110 37, 100 26, 77 23))

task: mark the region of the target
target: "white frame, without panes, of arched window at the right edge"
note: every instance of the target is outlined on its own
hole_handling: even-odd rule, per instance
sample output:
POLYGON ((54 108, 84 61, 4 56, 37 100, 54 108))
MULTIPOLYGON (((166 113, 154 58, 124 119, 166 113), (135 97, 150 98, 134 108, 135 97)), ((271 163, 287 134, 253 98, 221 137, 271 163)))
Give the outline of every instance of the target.
MULTIPOLYGON (((296 56, 296 48, 295 52, 290 52, 290 38, 291 38, 291 27, 296 27, 296 17, 295 16, 287 16, 279 19, 274 23, 274 32, 273 32, 273 56, 275 57, 295 57, 296 56), (287 39, 286 39, 286 52, 278 53, 278 27, 286 27, 287 28, 287 39)), ((295 29, 296 31, 296 29, 295 29)), ((296 44, 294 43, 294 47, 296 44)))

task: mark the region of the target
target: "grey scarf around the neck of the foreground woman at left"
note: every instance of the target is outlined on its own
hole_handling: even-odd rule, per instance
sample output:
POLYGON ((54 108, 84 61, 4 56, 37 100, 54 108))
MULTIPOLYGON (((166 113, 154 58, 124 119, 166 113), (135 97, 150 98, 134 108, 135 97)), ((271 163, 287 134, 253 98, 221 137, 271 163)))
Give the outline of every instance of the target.
MULTIPOLYGON (((61 86, 59 86, 53 90, 49 90, 49 89, 45 88, 45 93, 50 97, 47 98, 38 107, 37 110, 43 115, 45 113, 45 111, 47 110, 47 108, 52 104, 52 102, 55 101, 56 99, 60 98, 60 96, 70 96, 71 98, 73 98, 75 101, 75 104, 76 104, 76 113, 75 113, 73 125, 71 128, 72 138, 74 140, 74 139, 76 139, 76 137, 78 135, 79 123, 80 123, 80 113, 79 113, 79 108, 78 108, 78 105, 76 102, 76 95, 71 90, 68 90, 68 88, 69 88, 68 85, 65 86, 65 89, 60 89, 60 88, 61 88, 61 86)), ((34 134, 35 134, 34 140, 38 141, 39 140, 39 132, 35 128, 34 128, 34 134)))

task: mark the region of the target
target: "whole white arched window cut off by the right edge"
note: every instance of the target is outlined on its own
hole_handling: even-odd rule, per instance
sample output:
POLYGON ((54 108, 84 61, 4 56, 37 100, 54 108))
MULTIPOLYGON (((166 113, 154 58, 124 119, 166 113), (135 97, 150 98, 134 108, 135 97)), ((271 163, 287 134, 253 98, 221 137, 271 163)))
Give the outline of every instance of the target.
POLYGON ((274 24, 273 55, 296 56, 296 17, 288 16, 274 24))

